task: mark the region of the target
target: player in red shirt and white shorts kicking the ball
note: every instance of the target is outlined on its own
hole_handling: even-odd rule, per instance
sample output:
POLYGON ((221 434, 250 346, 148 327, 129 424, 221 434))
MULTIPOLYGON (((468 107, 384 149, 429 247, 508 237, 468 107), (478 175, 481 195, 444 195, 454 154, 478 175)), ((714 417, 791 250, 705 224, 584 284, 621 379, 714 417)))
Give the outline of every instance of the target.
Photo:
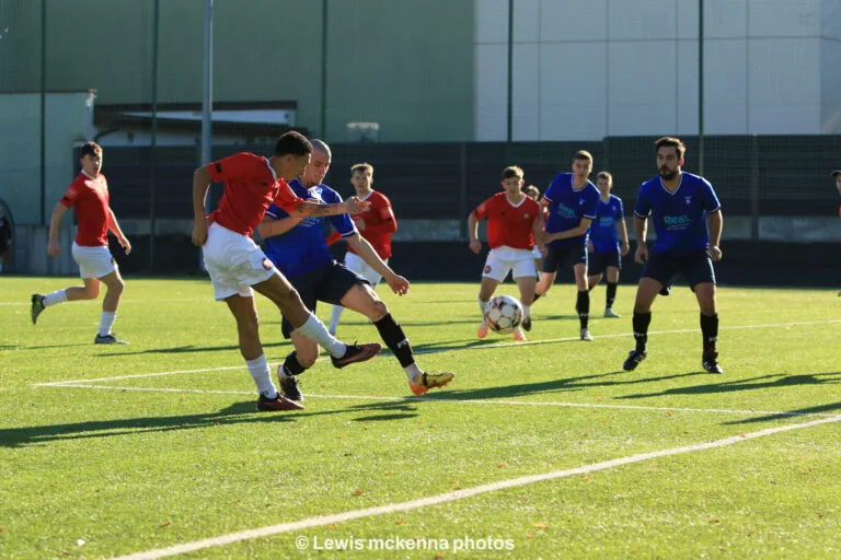
POLYGON ((330 206, 298 198, 285 179, 303 171, 311 152, 309 140, 298 132, 287 132, 277 140, 269 159, 240 152, 199 167, 193 176, 193 244, 204 247, 205 267, 216 300, 224 301, 237 319, 240 352, 260 392, 260 411, 303 407, 284 398, 272 382, 252 288, 277 305, 301 336, 326 348, 335 368, 370 360, 382 348, 377 343, 345 345, 336 340, 303 306, 298 292, 251 238, 273 202, 298 217, 358 212, 368 207, 356 198, 330 206), (205 217, 205 197, 211 180, 223 180, 224 192, 219 209, 205 217))

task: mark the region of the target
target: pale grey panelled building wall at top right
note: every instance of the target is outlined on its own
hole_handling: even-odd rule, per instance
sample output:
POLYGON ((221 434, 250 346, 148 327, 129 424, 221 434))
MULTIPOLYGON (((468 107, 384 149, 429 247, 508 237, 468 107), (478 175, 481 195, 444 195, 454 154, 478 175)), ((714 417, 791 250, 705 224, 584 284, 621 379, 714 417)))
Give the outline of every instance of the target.
MULTIPOLYGON (((841 131, 841 0, 705 0, 708 135, 841 131)), ((518 0, 514 140, 696 135, 698 0, 518 0)), ((476 0, 476 140, 505 140, 508 1, 476 0)))

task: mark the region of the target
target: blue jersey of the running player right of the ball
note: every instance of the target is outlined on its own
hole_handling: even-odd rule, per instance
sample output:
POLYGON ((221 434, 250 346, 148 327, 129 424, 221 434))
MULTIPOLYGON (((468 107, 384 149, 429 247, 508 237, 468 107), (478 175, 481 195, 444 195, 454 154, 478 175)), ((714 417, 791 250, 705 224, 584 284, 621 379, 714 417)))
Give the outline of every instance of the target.
MULTIPOLYGON (((549 214, 546 215, 546 233, 557 233, 577 228, 583 218, 595 220, 599 210, 599 189, 591 182, 576 190, 573 186, 573 174, 562 173, 554 179, 543 194, 549 201, 549 214)), ((585 245, 587 234, 555 240, 550 245, 585 245)))

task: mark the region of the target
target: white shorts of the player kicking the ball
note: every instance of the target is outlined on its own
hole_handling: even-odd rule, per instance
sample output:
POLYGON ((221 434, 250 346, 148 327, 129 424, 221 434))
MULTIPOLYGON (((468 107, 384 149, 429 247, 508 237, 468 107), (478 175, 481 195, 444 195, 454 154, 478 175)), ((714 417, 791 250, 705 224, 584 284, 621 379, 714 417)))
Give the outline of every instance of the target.
POLYGON ((252 298, 251 285, 279 273, 254 240, 218 223, 207 231, 204 254, 216 301, 234 294, 252 298))

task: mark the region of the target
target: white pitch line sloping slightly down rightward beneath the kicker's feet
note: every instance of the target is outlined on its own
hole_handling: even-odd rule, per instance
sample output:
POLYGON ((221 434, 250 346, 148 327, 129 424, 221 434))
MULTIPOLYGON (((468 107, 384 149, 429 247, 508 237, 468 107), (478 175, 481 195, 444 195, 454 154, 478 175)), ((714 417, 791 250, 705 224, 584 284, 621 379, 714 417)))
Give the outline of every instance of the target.
MULTIPOLYGON (((45 386, 41 384, 39 386, 45 386)), ((53 383, 46 385, 49 387, 80 388, 80 389, 104 389, 104 390, 135 390, 139 393, 193 393, 206 395, 250 395, 253 390, 214 390, 214 389, 177 389, 171 387, 124 387, 117 385, 88 385, 73 382, 67 385, 53 383)), ((492 405, 506 407, 558 407, 558 408, 603 408, 617 410, 643 410, 654 412, 698 412, 706 415, 736 415, 736 416, 780 416, 780 417, 834 417, 831 412, 781 412, 774 410, 738 410, 729 408, 677 408, 677 407, 645 407, 642 405, 610 405, 595 402, 558 402, 558 401, 530 401, 530 400, 495 400, 495 399, 460 399, 460 398, 436 398, 436 397, 383 397, 375 395, 310 395, 303 394, 307 398, 321 398, 332 400, 372 400, 372 401, 392 401, 392 402, 446 402, 449 405, 492 405)))

